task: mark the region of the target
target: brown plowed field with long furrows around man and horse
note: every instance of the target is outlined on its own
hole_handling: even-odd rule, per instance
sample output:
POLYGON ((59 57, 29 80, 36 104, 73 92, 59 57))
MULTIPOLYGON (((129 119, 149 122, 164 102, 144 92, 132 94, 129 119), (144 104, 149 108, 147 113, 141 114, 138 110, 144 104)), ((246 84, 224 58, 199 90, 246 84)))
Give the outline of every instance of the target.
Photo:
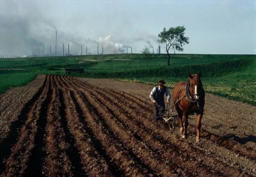
POLYGON ((194 116, 188 139, 154 122, 152 88, 41 75, 0 95, 0 175, 256 176, 255 107, 206 95, 197 144, 194 116))

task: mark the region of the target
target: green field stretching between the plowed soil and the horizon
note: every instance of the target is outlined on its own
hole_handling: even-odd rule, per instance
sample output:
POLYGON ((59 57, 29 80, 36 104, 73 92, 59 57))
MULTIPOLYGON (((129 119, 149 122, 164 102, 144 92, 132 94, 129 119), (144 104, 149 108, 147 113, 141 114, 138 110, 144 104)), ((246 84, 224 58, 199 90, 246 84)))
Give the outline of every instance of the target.
MULTIPOLYGON (((84 68, 77 77, 113 78, 155 84, 159 79, 173 86, 187 81, 188 74, 202 73, 205 91, 232 100, 256 105, 255 55, 172 55, 116 54, 104 56, 63 56, 0 59, 0 93, 32 81, 36 74, 67 75, 64 68, 84 68)), ((70 74, 69 74, 70 75, 70 74)))

